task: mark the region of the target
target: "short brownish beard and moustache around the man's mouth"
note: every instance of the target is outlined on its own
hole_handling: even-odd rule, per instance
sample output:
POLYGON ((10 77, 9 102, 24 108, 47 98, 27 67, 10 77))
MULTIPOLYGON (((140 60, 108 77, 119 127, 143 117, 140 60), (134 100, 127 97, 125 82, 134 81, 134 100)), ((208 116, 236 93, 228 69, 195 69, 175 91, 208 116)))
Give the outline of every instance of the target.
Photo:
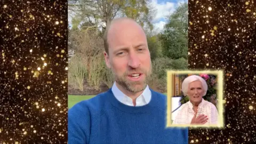
POLYGON ((124 89, 132 93, 137 93, 145 90, 145 88, 147 87, 149 77, 151 75, 151 66, 148 71, 142 70, 142 69, 129 70, 129 71, 125 71, 125 73, 122 76, 118 76, 113 70, 111 71, 115 77, 116 83, 123 86, 124 89), (143 79, 143 81, 137 81, 137 82, 127 81, 127 76, 132 73, 142 73, 143 75, 145 75, 145 79, 143 79))

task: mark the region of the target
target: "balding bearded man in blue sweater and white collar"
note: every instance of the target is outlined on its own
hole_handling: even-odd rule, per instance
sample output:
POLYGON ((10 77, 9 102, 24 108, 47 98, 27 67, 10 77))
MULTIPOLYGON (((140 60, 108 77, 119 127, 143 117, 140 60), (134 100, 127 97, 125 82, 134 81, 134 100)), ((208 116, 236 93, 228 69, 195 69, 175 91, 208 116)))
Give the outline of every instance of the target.
POLYGON ((115 83, 69 109, 68 143, 188 143, 187 128, 166 128, 166 96, 147 85, 151 60, 140 25, 115 19, 104 41, 115 83))

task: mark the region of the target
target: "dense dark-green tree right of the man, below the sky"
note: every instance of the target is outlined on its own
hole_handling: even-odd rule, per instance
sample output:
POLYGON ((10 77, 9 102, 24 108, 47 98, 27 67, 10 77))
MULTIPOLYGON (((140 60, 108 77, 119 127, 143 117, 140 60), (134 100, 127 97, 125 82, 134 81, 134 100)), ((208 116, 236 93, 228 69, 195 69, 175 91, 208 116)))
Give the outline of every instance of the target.
POLYGON ((163 55, 171 59, 188 55, 188 4, 182 4, 169 17, 161 34, 163 55))

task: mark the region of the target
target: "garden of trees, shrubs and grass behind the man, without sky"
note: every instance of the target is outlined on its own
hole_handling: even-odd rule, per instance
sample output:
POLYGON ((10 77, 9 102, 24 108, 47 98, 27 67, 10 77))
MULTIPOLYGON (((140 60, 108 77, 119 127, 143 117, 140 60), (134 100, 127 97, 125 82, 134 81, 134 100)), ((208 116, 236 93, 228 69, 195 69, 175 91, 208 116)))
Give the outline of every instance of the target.
POLYGON ((110 20, 135 19, 145 29, 153 74, 149 87, 166 94, 166 70, 188 67, 188 4, 165 15, 162 30, 153 25, 156 7, 149 1, 68 1, 68 107, 90 99, 113 85, 103 58, 103 32, 110 20))

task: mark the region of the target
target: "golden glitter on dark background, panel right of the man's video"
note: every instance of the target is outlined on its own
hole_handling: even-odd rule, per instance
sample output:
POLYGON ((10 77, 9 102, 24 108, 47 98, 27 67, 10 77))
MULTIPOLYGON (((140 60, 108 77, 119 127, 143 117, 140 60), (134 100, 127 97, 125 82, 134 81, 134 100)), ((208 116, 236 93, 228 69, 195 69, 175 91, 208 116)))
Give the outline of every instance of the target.
POLYGON ((188 1, 189 68, 225 69, 225 129, 189 131, 190 143, 256 142, 256 2, 188 1))

